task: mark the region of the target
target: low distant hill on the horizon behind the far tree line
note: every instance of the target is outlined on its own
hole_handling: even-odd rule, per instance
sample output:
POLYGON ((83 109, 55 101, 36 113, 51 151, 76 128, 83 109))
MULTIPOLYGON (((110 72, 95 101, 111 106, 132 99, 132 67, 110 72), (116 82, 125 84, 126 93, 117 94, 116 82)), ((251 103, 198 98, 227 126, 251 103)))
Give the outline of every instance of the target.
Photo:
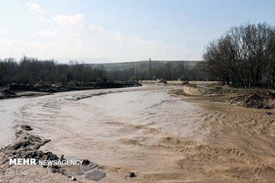
MULTIPOLYGON (((152 69, 159 69, 165 67, 167 63, 170 63, 171 67, 177 67, 179 63, 184 63, 186 67, 195 67, 196 63, 201 61, 151 61, 152 69)), ((144 72, 148 69, 149 61, 136 61, 136 62, 124 62, 124 63, 98 63, 91 64, 93 67, 102 65, 107 72, 109 71, 123 71, 125 69, 131 69, 135 67, 139 72, 144 72)))

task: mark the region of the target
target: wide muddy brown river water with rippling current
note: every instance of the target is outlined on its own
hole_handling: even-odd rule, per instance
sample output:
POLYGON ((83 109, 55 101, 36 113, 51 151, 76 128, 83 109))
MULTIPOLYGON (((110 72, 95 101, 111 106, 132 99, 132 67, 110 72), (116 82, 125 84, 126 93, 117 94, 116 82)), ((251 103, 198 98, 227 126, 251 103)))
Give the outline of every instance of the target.
MULTIPOLYGON (((17 140, 20 125, 30 125, 28 133, 51 140, 39 151, 99 164, 106 173, 99 182, 275 182, 274 109, 268 115, 267 109, 168 94, 180 87, 0 100, 1 146, 17 140)), ((2 153, 0 182, 72 181, 41 166, 10 167, 5 158, 2 153), (28 174, 10 175, 10 168, 28 174)), ((85 173, 76 179, 93 182, 85 173)))

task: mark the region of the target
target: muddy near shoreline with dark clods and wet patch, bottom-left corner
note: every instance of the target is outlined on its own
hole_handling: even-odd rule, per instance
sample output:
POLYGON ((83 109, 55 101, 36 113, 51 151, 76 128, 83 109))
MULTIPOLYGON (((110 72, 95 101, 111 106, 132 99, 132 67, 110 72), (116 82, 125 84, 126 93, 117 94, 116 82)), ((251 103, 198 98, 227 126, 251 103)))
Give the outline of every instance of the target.
MULTIPOLYGON (((9 175, 16 175, 17 173, 19 175, 27 175, 28 168, 30 168, 30 166, 23 166, 25 170, 22 170, 21 166, 14 164, 10 165, 10 159, 23 158, 27 160, 28 158, 32 158, 36 160, 36 164, 38 164, 40 160, 65 160, 64 155, 61 155, 59 157, 51 151, 41 151, 40 147, 45 145, 47 142, 50 142, 51 140, 45 139, 41 136, 33 135, 32 133, 30 133, 30 131, 32 130, 33 129, 28 125, 21 125, 21 127, 17 127, 17 140, 14 143, 9 144, 7 147, 3 147, 2 149, 0 149, 0 173, 1 175, 3 175, 3 177, 7 177, 7 179, 3 180, 3 182, 7 182, 9 180, 11 180, 12 182, 19 182, 19 180, 17 180, 17 176, 10 177, 9 175), (11 173, 11 170, 14 169, 16 169, 17 173, 11 173)), ((63 175, 63 181, 65 182, 75 182, 77 180, 93 180, 97 182, 105 177, 105 173, 103 171, 104 167, 99 166, 98 164, 91 162, 90 160, 82 161, 82 165, 40 165, 40 167, 36 168, 47 169, 47 171, 50 171, 50 173, 63 175)), ((32 168, 33 166, 39 165, 32 165, 32 168)))

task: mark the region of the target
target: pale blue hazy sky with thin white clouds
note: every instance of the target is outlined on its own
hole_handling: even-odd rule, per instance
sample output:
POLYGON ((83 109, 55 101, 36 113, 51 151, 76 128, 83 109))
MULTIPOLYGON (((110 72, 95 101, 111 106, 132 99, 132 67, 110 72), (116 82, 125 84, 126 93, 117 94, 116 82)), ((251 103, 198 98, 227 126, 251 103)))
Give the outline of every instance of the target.
POLYGON ((228 28, 264 21, 273 0, 1 0, 0 58, 200 60, 228 28))

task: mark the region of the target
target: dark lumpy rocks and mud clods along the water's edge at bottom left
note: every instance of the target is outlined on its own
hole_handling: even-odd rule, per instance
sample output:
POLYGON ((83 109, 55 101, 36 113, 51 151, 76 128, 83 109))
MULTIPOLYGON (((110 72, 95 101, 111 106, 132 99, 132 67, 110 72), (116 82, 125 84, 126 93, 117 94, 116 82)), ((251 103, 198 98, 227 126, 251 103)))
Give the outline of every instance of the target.
MULTIPOLYGON (((5 164, 5 166, 10 167, 8 164, 9 159, 14 158, 34 158, 36 160, 36 164, 38 164, 41 160, 65 160, 64 155, 61 155, 61 157, 58 158, 57 155, 50 151, 43 152, 39 150, 43 144, 50 142, 50 140, 28 133, 28 131, 32 129, 30 126, 21 125, 19 128, 19 131, 16 132, 16 142, 0 149, 0 153, 4 155, 1 158, 1 164, 5 164)), ((90 160, 83 160, 82 165, 71 167, 74 171, 69 171, 69 166, 65 165, 57 166, 53 164, 43 165, 42 167, 50 169, 52 173, 67 175, 67 177, 69 177, 72 181, 76 181, 76 175, 83 175, 84 173, 86 175, 86 179, 94 181, 99 181, 106 176, 106 173, 100 171, 100 166, 90 160)))

